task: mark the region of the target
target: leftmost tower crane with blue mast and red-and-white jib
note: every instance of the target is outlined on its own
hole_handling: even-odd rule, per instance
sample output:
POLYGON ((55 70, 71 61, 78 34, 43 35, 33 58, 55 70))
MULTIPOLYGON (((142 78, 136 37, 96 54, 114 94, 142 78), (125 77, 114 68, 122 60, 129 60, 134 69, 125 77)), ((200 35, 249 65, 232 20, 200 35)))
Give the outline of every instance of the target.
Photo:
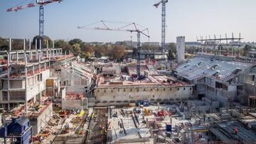
POLYGON ((48 0, 48 1, 36 0, 36 2, 31 2, 30 4, 9 8, 9 9, 7 9, 7 11, 8 12, 9 11, 19 11, 21 9, 32 8, 32 7, 35 7, 35 6, 39 6, 39 36, 41 38, 43 38, 44 6, 46 6, 47 4, 54 3, 54 2, 61 3, 62 1, 63 0, 48 0))

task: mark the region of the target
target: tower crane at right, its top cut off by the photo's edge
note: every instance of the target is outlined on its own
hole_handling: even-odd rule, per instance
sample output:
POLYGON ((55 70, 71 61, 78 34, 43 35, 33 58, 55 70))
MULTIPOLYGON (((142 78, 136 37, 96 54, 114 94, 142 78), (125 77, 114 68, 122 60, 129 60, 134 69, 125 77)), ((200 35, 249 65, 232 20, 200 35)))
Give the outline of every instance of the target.
POLYGON ((165 60, 164 52, 165 52, 165 38, 166 38, 166 3, 168 0, 161 0, 158 3, 154 4, 156 8, 160 4, 162 4, 162 12, 161 12, 161 49, 162 49, 162 60, 165 60))

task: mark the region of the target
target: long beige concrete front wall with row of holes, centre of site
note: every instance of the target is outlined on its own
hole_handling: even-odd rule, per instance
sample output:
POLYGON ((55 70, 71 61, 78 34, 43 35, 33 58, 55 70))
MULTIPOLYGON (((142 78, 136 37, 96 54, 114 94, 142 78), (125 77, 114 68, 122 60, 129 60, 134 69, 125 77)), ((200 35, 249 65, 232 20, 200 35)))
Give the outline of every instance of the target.
POLYGON ((107 106, 142 100, 153 102, 188 99, 192 92, 192 86, 97 87, 95 97, 98 106, 107 106))

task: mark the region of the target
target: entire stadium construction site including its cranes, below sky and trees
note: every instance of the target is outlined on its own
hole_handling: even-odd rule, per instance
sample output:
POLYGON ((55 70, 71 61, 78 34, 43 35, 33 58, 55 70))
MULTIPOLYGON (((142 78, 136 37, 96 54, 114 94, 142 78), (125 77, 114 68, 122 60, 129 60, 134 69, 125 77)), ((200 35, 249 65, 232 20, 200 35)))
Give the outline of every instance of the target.
POLYGON ((148 28, 99 21, 102 27, 77 28, 135 33, 136 48, 124 50, 125 60, 81 60, 82 52, 43 39, 44 6, 55 2, 62 0, 7 9, 39 6, 39 38, 22 39, 18 50, 16 39, 4 38, 0 143, 256 143, 256 56, 254 48, 241 54, 241 35, 201 36, 191 57, 185 36, 177 36, 175 59, 168 60, 168 1, 161 0, 154 4, 161 5, 161 50, 141 50, 148 28))

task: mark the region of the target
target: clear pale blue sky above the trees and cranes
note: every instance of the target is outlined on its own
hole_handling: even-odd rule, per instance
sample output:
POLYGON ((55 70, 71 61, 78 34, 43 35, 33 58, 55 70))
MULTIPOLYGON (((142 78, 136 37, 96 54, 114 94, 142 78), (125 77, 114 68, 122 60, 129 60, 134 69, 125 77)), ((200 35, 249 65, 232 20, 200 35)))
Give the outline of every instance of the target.
MULTIPOLYGON (((0 0, 0 36, 33 38, 38 35, 38 7, 6 12, 9 7, 31 0, 0 0)), ((84 41, 114 42, 136 40, 136 35, 117 31, 80 30, 100 20, 135 22, 149 28, 149 41, 161 41, 161 6, 159 0, 64 0, 45 7, 45 35, 52 39, 81 38, 84 41)), ((169 0, 166 4, 166 42, 176 36, 195 41, 196 36, 235 35, 256 41, 255 0, 169 0)), ((142 41, 148 41, 142 36, 142 41)))

